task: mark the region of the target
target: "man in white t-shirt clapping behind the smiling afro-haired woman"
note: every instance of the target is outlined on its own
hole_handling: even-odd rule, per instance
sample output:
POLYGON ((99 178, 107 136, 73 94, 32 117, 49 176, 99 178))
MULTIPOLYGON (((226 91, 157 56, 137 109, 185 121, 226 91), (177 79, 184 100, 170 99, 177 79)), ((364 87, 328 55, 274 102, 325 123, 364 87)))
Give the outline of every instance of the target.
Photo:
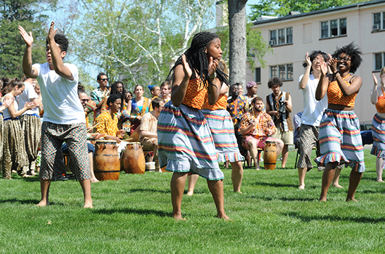
MULTIPOLYGON (((317 157, 320 154, 320 143, 318 135, 320 133, 320 122, 322 115, 327 108, 327 96, 322 100, 316 100, 316 89, 321 76, 320 60, 327 61, 327 54, 322 51, 312 51, 310 56, 306 54, 306 62, 304 63, 305 73, 298 80, 298 89, 303 93, 303 114, 300 125, 300 157, 298 159, 298 176, 300 180, 299 189, 305 188, 306 172, 313 168, 311 165, 311 150, 316 146, 317 157)), ((318 168, 324 170, 324 168, 318 168)), ((333 179, 333 185, 338 185, 340 171, 336 171, 336 177, 333 179)))

